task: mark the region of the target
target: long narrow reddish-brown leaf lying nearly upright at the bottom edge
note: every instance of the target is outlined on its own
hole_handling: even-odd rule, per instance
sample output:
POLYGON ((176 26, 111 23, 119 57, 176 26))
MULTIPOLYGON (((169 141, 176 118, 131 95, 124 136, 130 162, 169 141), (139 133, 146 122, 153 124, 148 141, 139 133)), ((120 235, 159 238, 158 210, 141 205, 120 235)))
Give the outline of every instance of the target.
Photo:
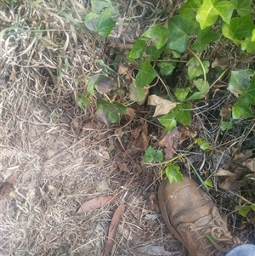
POLYGON ((122 202, 121 205, 118 208, 116 208, 116 211, 112 216, 111 225, 108 231, 108 239, 107 239, 107 242, 105 243, 105 253, 111 252, 111 249, 116 239, 116 232, 120 224, 120 221, 122 219, 124 210, 125 210, 125 207, 124 207, 124 203, 122 202))

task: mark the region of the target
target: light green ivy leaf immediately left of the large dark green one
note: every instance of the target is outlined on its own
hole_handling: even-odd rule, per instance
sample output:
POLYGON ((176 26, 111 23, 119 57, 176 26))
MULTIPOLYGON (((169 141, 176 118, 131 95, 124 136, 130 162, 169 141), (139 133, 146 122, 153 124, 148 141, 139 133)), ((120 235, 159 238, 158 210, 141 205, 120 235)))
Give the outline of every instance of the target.
POLYGON ((167 28, 159 24, 144 32, 144 37, 152 38, 156 42, 157 49, 161 48, 165 45, 165 43, 167 43, 168 36, 169 31, 167 28))

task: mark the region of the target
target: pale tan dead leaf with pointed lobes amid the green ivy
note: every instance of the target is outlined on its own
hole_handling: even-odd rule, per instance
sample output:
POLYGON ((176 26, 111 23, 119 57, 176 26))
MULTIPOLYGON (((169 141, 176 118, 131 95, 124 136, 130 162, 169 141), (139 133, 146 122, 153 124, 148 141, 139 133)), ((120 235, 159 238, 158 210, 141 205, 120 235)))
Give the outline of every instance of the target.
POLYGON ((161 97, 156 96, 156 95, 150 95, 148 97, 147 104, 148 105, 156 105, 156 110, 154 112, 153 117, 168 114, 177 105, 177 103, 175 103, 175 102, 162 99, 161 97))

